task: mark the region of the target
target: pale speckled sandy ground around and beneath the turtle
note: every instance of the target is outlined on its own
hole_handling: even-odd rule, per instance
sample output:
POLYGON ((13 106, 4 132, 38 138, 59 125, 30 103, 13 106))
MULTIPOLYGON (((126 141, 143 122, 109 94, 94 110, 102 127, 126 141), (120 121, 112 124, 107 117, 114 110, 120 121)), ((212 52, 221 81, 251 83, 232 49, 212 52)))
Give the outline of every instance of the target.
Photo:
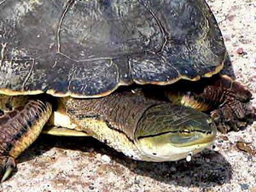
MULTIPOLYGON (((237 79, 256 98, 256 1, 208 0, 222 29, 237 79), (242 48, 244 54, 237 54, 242 48)), ((256 107, 256 99, 253 100, 256 107)), ((256 157, 236 148, 256 148, 256 124, 219 134, 215 151, 191 162, 129 160, 91 138, 43 136, 20 156, 18 172, 0 191, 256 191, 256 157)))

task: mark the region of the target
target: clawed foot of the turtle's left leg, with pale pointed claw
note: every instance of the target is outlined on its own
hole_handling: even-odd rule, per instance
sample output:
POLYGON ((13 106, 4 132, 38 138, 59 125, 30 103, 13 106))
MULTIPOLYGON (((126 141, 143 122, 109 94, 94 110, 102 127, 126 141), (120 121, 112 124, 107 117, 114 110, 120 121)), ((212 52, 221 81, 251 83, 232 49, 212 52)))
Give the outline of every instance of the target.
POLYGON ((9 156, 0 156, 0 179, 3 183, 15 169, 15 159, 9 156))

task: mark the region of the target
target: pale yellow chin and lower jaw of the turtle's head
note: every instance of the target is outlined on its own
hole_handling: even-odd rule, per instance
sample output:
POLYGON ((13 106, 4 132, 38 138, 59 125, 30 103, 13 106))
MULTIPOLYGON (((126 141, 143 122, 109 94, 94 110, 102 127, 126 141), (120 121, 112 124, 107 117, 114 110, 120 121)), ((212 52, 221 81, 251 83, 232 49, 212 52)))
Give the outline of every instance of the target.
POLYGON ((158 137, 144 137, 137 140, 137 148, 143 154, 143 160, 162 162, 182 160, 191 154, 197 154, 209 147, 214 142, 215 133, 198 133, 195 139, 183 140, 180 143, 172 143, 172 139, 178 140, 177 134, 168 133, 158 137), (172 136, 170 136, 172 134, 172 136), (201 136, 200 136, 201 135, 201 136))

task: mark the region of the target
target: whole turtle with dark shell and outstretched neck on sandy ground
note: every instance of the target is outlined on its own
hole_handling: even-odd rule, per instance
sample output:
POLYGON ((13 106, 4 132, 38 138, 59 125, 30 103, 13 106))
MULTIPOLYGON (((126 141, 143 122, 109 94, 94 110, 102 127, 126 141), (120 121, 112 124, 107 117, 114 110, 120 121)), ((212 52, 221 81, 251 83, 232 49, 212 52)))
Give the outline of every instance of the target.
MULTIPOLYGON (((0 1, 0 179, 40 133, 175 161, 246 125, 205 0, 0 1)), ((189 158, 188 158, 189 159, 189 158)))

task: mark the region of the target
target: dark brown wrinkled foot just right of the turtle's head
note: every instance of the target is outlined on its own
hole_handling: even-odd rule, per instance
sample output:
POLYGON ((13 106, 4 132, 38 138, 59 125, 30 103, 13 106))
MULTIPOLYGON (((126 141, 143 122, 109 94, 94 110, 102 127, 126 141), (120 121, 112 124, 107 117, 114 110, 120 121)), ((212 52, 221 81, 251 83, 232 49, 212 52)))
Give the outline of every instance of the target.
POLYGON ((253 114, 251 92, 226 75, 220 76, 214 85, 207 86, 201 96, 215 96, 215 100, 218 100, 217 105, 212 106, 211 116, 218 130, 223 133, 230 129, 239 131, 247 125, 248 117, 253 114))

